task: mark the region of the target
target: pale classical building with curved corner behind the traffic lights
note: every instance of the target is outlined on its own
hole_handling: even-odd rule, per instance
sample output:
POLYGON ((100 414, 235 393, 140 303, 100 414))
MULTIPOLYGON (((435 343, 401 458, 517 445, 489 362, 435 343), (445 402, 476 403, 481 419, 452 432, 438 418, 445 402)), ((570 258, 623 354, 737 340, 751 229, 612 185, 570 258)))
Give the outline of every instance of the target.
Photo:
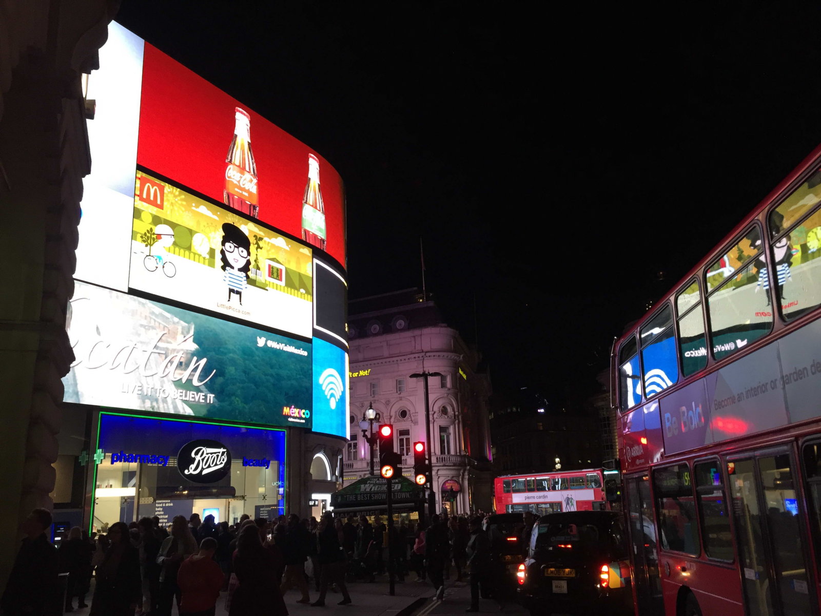
MULTIPOLYGON (((343 462, 344 485, 370 474, 370 447, 360 421, 371 404, 382 423, 393 425, 403 475, 413 478, 412 444, 427 443, 428 434, 423 379, 410 375, 438 372, 441 376, 428 378, 428 446, 437 511, 488 511, 491 389, 479 353, 443 323, 438 307, 417 289, 351 301, 349 308, 351 439, 343 462)), ((374 460, 378 472, 378 447, 374 460)))

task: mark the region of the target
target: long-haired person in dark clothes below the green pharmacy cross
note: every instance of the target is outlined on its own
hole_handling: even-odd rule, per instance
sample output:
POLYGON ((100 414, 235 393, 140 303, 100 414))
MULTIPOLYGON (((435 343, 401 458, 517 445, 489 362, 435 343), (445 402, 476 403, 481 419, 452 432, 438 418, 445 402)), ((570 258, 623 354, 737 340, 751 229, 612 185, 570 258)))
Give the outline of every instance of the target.
POLYGON ((105 559, 97 567, 90 616, 133 616, 142 597, 140 554, 131 545, 125 522, 114 522, 108 539, 105 559))

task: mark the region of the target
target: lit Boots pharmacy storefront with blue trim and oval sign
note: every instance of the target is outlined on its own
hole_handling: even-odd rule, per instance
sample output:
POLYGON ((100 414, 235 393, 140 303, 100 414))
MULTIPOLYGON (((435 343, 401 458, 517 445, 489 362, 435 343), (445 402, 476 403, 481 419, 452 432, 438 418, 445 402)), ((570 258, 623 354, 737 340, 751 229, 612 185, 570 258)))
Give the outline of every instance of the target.
POLYGON ((192 513, 236 524, 285 513, 285 430, 101 412, 91 530, 192 513))

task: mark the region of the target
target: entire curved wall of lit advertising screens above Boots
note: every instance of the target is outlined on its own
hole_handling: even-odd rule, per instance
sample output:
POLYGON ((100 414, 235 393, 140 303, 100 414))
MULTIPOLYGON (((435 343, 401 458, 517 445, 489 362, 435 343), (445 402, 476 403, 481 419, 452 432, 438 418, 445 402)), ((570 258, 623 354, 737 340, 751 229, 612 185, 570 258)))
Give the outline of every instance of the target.
POLYGON ((88 85, 92 172, 80 204, 67 402, 319 421, 346 435, 342 180, 240 101, 122 26, 108 30, 88 85), (195 333, 146 347, 166 326, 195 333), (335 345, 344 392, 333 405, 325 398, 319 415, 314 382, 330 364, 328 352, 313 361, 316 336, 335 345), (111 348, 159 365, 123 372, 122 357, 105 357, 111 348), (209 381, 193 384, 196 370, 177 379, 182 360, 163 364, 186 353, 207 356, 209 381), (99 361, 111 369, 94 368, 99 361))

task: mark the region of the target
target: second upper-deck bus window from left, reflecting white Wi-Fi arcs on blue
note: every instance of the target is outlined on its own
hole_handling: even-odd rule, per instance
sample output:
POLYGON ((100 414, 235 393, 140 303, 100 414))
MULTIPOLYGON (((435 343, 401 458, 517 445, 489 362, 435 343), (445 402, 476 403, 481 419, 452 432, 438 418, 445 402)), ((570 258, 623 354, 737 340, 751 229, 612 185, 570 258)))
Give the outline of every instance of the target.
POLYGON ((672 329, 672 308, 666 304, 640 332, 644 395, 648 398, 678 380, 676 339, 672 329))

